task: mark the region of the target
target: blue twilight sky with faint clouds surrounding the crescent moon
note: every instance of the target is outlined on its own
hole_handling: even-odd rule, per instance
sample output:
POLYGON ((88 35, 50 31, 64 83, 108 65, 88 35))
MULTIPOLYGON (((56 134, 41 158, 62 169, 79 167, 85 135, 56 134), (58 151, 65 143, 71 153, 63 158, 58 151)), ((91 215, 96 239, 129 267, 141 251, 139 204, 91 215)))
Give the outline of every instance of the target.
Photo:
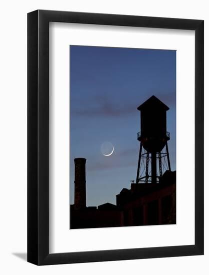
POLYGON ((70 46, 70 203, 74 158, 85 157, 87 206, 116 204, 116 194, 136 179, 137 107, 155 95, 167 111, 168 149, 175 170, 176 51, 70 46), (103 142, 114 146, 101 153, 103 142))

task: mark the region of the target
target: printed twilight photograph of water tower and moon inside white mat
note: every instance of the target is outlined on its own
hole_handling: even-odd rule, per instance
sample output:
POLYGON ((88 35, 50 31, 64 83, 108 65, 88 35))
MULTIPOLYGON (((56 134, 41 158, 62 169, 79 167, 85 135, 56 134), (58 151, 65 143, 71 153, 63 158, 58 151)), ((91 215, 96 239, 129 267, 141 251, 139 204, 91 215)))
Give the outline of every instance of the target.
POLYGON ((176 223, 176 50, 70 45, 70 229, 176 223))

